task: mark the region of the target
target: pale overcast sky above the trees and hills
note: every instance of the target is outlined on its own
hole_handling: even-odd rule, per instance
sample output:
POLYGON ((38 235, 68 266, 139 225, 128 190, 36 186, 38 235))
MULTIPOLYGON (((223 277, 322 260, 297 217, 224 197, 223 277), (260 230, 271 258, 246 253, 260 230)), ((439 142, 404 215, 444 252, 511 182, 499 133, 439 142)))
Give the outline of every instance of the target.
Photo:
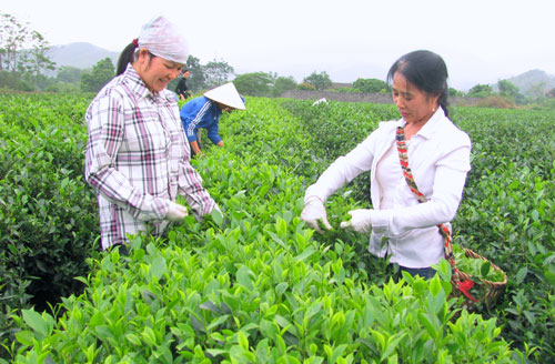
POLYGON ((417 49, 447 63, 451 85, 539 69, 555 74, 554 0, 4 0, 9 13, 51 46, 90 42, 121 51, 141 26, 165 16, 201 63, 223 59, 235 73, 278 72, 302 81, 385 79, 417 49))

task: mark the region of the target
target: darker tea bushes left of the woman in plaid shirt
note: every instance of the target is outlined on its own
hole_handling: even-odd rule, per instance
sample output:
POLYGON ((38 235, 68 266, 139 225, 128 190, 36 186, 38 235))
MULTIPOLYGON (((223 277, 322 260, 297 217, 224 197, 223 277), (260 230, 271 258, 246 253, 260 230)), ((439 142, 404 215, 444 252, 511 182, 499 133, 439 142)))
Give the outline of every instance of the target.
MULTIPOLYGON (((46 310, 82 284, 98 235, 95 196, 82 179, 90 99, 0 95, 0 341, 14 310, 46 310)), ((2 350, 0 350, 0 357, 2 350)))

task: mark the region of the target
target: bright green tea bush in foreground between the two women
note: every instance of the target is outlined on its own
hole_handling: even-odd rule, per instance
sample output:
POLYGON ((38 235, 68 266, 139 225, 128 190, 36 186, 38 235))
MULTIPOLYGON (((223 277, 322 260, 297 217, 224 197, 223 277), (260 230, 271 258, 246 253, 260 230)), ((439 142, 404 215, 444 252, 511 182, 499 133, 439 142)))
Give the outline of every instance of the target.
POLYGON ((302 178, 223 150, 198 164, 226 221, 188 218, 167 240, 105 254, 58 321, 23 311, 16 363, 509 363, 495 318, 454 318, 451 284, 370 284, 350 245, 313 240, 302 178), (232 166, 222 173, 222 165, 232 166), (263 193, 250 185, 275 186, 263 193), (246 190, 245 190, 246 188, 246 190), (340 247, 341 246, 341 247, 340 247))

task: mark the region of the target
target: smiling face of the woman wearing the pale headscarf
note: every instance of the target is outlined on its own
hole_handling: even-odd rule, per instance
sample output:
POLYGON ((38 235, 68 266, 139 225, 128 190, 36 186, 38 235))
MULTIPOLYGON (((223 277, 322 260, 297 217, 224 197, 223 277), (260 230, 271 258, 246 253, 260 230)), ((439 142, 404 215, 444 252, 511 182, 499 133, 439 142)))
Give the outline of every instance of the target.
POLYGON ((150 92, 160 92, 168 83, 179 77, 183 64, 164 60, 160 57, 150 57, 149 51, 141 49, 137 61, 137 72, 147 84, 150 92))

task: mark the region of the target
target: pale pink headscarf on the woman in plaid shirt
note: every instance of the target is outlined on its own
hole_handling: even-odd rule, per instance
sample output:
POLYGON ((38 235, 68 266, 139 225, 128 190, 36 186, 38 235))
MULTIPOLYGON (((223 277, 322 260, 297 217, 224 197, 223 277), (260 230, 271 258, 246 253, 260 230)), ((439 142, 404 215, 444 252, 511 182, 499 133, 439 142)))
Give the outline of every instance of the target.
POLYGON ((157 17, 142 27, 139 48, 145 48, 154 55, 182 64, 185 64, 189 58, 185 38, 164 17, 157 17))

